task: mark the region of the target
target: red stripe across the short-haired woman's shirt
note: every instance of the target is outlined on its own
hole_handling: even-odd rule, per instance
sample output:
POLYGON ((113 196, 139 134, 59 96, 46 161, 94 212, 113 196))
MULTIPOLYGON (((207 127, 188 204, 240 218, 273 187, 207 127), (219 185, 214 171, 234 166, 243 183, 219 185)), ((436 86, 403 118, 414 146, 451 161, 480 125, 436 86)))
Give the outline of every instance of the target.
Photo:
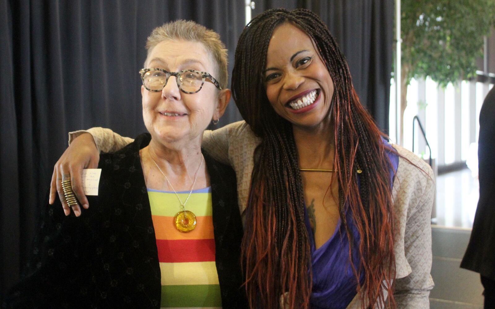
POLYGON ((215 261, 214 239, 157 239, 156 247, 160 263, 215 261))

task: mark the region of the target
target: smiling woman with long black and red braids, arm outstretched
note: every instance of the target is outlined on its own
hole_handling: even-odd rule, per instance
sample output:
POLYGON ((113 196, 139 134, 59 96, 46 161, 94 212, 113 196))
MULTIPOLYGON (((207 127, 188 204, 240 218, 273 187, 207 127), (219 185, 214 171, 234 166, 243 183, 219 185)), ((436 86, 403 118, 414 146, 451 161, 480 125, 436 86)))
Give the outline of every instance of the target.
MULTIPOLYGON (((317 15, 255 17, 239 39, 232 87, 246 122, 205 132, 203 146, 236 171, 250 306, 428 308, 432 171, 382 138, 317 15)), ((126 142, 91 133, 100 149, 126 142)), ((90 142, 69 163, 88 147, 76 140, 55 176, 96 152, 90 142)))

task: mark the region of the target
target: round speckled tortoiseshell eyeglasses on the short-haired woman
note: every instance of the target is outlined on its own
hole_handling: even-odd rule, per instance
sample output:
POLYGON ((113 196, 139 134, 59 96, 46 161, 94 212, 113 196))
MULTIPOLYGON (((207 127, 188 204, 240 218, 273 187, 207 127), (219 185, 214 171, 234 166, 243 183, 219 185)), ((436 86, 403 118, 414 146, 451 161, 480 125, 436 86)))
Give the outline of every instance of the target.
POLYGON ((208 81, 215 85, 216 88, 222 90, 217 80, 206 72, 196 70, 183 70, 180 72, 168 72, 163 69, 141 69, 139 76, 143 81, 143 85, 149 91, 161 91, 167 85, 168 78, 175 76, 177 87, 185 93, 196 93, 203 87, 204 81, 208 81))

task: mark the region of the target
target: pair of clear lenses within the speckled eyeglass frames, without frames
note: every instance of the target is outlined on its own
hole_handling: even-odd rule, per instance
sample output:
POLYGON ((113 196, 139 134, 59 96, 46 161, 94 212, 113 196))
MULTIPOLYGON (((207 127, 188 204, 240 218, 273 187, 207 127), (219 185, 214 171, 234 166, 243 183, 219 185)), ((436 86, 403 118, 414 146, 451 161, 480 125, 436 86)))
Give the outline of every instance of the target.
MULTIPOLYGON (((165 72, 153 70, 145 73, 143 77, 146 88, 150 90, 161 90, 167 83, 165 72)), ((178 79, 180 88, 188 92, 196 92, 201 88, 203 77, 198 72, 183 72, 178 79)))

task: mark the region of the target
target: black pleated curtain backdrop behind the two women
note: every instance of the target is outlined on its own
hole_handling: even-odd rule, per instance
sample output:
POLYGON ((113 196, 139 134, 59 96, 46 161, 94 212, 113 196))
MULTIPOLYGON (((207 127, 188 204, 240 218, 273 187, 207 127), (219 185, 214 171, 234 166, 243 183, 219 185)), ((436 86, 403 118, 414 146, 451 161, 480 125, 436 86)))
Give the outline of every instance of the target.
MULTIPOLYGON (((67 132, 145 131, 137 72, 148 34, 163 22, 192 19, 218 32, 231 70, 244 2, 0 0, 0 299, 29 259, 67 132)), ((363 104, 388 130, 394 0, 255 2, 252 16, 272 7, 320 14, 347 56, 363 104)), ((220 125, 240 119, 231 102, 220 125)))

